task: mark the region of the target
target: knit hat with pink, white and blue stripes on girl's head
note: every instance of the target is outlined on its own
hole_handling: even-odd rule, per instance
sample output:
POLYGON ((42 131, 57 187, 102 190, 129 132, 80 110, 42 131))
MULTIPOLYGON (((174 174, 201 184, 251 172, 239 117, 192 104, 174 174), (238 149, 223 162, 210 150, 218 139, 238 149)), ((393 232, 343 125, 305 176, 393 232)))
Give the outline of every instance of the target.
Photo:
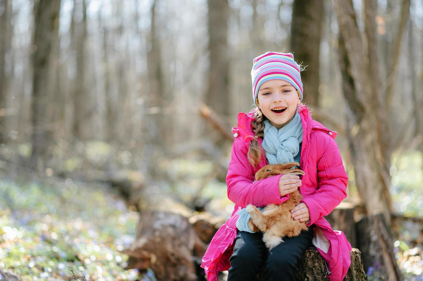
POLYGON ((253 60, 251 79, 253 81, 253 99, 257 104, 258 89, 266 81, 281 79, 291 83, 302 101, 302 82, 299 65, 294 61, 291 53, 266 52, 253 60))

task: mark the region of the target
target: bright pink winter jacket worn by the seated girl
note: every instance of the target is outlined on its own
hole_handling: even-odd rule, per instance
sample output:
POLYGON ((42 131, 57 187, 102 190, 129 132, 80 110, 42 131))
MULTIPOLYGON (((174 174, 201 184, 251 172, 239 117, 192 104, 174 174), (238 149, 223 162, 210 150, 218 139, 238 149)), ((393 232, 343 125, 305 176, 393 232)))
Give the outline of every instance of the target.
MULTIPOLYGON (((346 276, 351 264, 351 245, 342 231, 334 231, 323 216, 329 214, 346 198, 348 177, 342 164, 341 154, 335 142, 336 132, 325 128, 313 120, 307 106, 298 108, 301 116, 303 137, 300 166, 305 172, 299 192, 310 213, 310 222, 315 224, 313 245, 325 259, 330 281, 341 281, 346 276)), ((270 203, 280 204, 289 198, 281 197, 278 182, 281 175, 255 181, 255 172, 267 165, 262 153, 260 164, 253 168, 248 162, 247 152, 251 137, 254 136, 251 125, 252 114, 239 113, 238 127, 232 128, 235 137, 226 183, 228 198, 235 203, 231 217, 216 232, 204 254, 201 267, 204 268, 208 281, 217 281, 219 271, 228 270, 229 257, 233 253, 236 237, 237 212, 248 204, 257 207, 270 203)), ((258 138, 261 147, 262 138, 258 138)), ((324 277, 324 276, 323 276, 324 277)))

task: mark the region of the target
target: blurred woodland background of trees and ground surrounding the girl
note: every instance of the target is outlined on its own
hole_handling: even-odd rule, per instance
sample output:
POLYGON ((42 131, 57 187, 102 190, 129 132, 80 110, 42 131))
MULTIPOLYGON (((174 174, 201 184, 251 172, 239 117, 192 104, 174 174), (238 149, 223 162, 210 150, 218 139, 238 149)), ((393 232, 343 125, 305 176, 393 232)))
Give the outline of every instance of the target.
POLYGON ((338 132, 333 229, 368 280, 423 280, 421 0, 0 0, 0 276, 205 280, 267 51, 338 132))

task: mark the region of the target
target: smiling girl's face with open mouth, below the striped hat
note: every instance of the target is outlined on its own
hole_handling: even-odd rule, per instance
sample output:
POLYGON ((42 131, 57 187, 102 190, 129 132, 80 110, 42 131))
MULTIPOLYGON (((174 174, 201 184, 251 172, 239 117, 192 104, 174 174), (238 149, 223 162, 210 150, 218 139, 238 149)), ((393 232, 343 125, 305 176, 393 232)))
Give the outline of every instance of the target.
POLYGON ((261 84, 257 98, 258 108, 278 130, 294 118, 297 105, 301 104, 295 87, 280 79, 261 84))

